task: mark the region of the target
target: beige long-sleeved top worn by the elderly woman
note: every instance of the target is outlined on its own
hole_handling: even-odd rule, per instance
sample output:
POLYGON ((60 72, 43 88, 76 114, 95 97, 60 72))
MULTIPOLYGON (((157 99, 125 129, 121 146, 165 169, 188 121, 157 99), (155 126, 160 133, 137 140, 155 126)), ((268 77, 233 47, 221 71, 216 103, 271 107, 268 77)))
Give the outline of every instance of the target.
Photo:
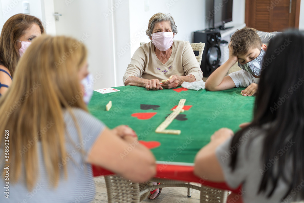
POLYGON ((130 76, 161 81, 171 75, 185 76, 189 74, 193 75, 196 81, 202 80, 203 73, 189 42, 174 40, 172 54, 169 60, 163 64, 158 60, 151 41, 141 45, 135 51, 123 75, 123 84, 130 76))

